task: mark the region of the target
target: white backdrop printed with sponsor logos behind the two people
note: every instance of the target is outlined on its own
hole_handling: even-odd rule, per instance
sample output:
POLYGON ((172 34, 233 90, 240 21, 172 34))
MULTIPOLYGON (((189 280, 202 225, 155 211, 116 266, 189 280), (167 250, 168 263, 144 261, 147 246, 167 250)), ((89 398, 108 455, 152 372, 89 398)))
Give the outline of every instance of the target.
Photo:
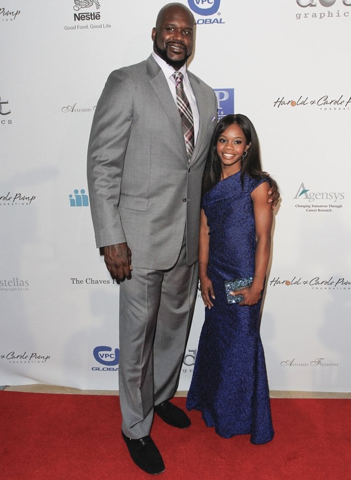
MULTIPOLYGON (((118 389, 118 284, 86 150, 110 71, 152 50, 160 0, 2 0, 0 384, 118 389)), ((350 390, 351 0, 184 0, 190 69, 247 114, 282 202, 261 334, 272 390, 350 390)), ((180 390, 190 384, 200 298, 180 390)))

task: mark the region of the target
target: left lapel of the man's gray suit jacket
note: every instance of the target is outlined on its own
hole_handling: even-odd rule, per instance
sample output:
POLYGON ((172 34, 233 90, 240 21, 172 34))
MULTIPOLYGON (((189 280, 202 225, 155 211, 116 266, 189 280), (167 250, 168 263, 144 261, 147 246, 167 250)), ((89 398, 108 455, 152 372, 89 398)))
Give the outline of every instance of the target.
MULTIPOLYGON (((162 105, 163 110, 167 114, 169 121, 173 127, 175 136, 177 137, 184 157, 188 165, 188 155, 187 149, 185 146, 182 122, 180 121, 179 111, 177 105, 175 105, 174 100, 169 91, 168 83, 164 78, 162 70, 159 68, 157 63, 150 56, 146 60, 146 67, 148 74, 152 77, 150 80, 150 85, 155 92, 160 104, 162 105)), ((155 112, 156 113, 156 112, 155 112)))

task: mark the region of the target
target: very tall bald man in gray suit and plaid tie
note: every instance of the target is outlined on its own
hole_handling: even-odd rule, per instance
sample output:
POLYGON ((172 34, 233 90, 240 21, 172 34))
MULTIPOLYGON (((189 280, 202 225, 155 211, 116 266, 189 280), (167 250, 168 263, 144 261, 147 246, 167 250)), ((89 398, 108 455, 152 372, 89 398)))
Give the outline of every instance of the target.
POLYGON ((172 426, 190 425, 168 400, 195 306, 201 182, 217 102, 186 68, 194 39, 189 9, 163 7, 151 38, 147 60, 107 79, 91 128, 88 185, 96 245, 120 280, 122 436, 140 468, 160 473, 162 457, 149 435, 154 412, 172 426), (190 135, 174 72, 183 74, 190 135), (189 137, 195 142, 186 147, 189 137))

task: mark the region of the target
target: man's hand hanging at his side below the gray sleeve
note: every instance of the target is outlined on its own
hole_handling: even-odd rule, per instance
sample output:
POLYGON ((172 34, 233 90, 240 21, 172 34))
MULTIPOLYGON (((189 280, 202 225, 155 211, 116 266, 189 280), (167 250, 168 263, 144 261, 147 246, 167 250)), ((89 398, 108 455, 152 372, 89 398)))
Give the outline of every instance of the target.
POLYGON ((104 247, 107 270, 118 280, 131 278, 131 251, 127 243, 116 243, 104 247))

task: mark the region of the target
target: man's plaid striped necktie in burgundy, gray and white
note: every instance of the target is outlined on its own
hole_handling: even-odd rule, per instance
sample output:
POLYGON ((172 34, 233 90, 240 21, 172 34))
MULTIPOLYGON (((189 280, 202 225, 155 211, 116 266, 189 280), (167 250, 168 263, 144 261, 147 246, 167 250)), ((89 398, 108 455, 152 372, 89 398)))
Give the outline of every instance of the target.
POLYGON ((194 151, 194 119, 191 106, 183 89, 183 73, 174 72, 175 92, 177 93, 177 107, 182 119, 183 134, 185 146, 187 148, 188 159, 194 151))

